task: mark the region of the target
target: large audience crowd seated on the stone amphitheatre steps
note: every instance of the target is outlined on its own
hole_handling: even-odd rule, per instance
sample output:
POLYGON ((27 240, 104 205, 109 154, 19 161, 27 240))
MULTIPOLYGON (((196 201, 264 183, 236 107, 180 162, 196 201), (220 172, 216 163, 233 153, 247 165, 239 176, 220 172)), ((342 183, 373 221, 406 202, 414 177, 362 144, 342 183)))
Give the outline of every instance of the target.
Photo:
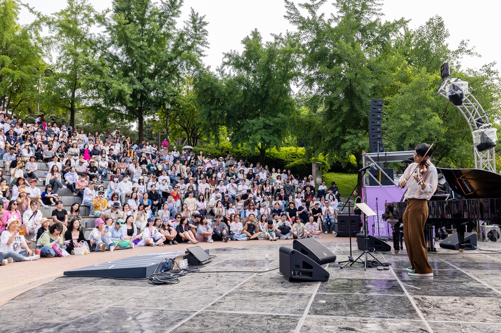
POLYGON ((229 153, 169 149, 167 139, 157 146, 43 116, 27 123, 0 110, 0 118, 0 258, 7 262, 70 255, 82 246, 105 252, 335 233, 334 182, 316 184, 312 175, 229 153), (94 227, 86 230, 86 223, 94 227))

